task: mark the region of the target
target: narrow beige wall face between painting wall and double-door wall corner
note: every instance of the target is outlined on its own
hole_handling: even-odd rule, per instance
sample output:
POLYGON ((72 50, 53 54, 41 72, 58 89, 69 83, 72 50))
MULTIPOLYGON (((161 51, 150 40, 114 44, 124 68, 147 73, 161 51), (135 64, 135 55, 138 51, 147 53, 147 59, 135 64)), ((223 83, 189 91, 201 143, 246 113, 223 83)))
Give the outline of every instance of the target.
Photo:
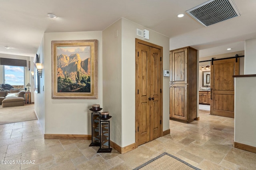
POLYGON ((122 20, 102 31, 103 105, 112 116, 110 140, 122 142, 122 20), (115 36, 115 32, 118 36, 115 36))

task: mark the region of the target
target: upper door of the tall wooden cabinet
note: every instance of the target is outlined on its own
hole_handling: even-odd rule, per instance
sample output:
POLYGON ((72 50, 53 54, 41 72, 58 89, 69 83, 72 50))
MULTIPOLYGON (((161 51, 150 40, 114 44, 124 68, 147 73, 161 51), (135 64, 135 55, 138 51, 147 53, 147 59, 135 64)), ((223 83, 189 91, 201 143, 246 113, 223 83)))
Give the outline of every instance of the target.
POLYGON ((187 83, 187 53, 188 49, 170 52, 170 83, 187 83))

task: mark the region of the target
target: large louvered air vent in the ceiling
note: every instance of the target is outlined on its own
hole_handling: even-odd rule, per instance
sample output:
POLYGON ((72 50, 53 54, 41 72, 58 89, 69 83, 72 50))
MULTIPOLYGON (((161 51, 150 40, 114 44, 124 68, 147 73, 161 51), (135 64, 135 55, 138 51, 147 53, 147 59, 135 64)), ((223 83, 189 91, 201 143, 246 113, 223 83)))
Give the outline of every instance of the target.
POLYGON ((240 16, 232 0, 209 0, 187 10, 186 13, 206 27, 240 16))

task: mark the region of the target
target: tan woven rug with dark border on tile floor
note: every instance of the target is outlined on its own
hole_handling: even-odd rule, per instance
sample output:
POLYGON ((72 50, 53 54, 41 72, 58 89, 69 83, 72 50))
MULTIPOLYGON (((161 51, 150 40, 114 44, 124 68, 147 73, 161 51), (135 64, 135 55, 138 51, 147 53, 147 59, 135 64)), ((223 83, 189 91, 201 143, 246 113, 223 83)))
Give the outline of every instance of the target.
POLYGON ((134 170, 200 170, 187 162, 168 154, 160 154, 156 158, 138 166, 134 170))

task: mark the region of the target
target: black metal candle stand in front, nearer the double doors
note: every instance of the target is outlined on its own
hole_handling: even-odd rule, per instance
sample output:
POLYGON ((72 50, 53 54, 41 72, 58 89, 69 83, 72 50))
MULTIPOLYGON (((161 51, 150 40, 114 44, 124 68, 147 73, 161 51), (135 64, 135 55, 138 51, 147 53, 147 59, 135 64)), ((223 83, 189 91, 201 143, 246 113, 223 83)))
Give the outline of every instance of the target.
POLYGON ((97 153, 111 152, 110 148, 110 125, 109 120, 112 116, 108 118, 100 118, 100 149, 97 153))

